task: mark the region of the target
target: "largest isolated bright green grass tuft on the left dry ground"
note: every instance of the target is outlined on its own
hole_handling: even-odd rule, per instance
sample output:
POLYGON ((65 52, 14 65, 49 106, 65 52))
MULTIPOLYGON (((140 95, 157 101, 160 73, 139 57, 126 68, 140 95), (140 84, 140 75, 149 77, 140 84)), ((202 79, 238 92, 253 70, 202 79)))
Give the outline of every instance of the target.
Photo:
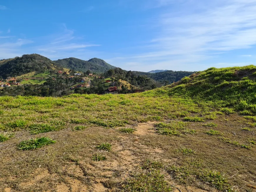
POLYGON ((33 150, 36 148, 40 148, 42 146, 49 145, 51 143, 55 143, 56 141, 52 140, 49 137, 40 137, 35 139, 29 139, 25 141, 21 141, 18 145, 18 149, 20 150, 33 150))

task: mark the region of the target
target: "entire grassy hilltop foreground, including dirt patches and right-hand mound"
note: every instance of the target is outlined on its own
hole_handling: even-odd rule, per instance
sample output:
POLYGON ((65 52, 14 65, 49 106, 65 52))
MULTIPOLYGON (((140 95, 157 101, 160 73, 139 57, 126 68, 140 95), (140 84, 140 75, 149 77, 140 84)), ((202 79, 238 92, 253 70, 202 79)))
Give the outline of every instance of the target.
POLYGON ((139 94, 2 96, 0 191, 253 191, 255 79, 250 65, 139 94))

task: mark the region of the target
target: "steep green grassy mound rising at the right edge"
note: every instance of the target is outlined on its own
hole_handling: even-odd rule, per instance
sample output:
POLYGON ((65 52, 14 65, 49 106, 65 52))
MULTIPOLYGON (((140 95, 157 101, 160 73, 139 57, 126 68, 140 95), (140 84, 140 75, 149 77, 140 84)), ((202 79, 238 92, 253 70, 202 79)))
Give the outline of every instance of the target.
MULTIPOLYGON (((191 98, 202 107, 256 114, 256 66, 210 68, 146 95, 191 98)), ((208 109, 208 108, 207 108, 208 109)))

